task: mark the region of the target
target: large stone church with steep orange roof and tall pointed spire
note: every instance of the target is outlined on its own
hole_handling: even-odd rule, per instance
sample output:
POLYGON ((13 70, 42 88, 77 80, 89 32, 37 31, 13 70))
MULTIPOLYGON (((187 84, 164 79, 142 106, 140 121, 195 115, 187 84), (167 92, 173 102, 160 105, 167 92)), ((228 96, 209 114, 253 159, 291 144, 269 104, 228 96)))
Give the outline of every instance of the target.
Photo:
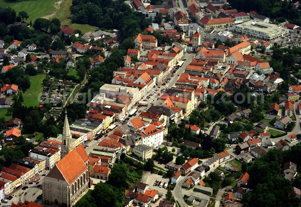
POLYGON ((89 158, 82 144, 73 149, 67 113, 62 135, 61 160, 43 181, 43 203, 72 207, 88 192, 89 158))

